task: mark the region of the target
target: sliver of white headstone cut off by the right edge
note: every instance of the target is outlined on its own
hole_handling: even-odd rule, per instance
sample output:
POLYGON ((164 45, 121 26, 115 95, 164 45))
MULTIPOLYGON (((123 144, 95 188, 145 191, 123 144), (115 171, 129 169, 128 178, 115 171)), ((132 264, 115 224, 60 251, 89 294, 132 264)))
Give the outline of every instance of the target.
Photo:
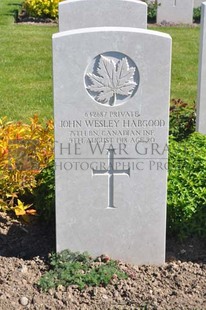
POLYGON ((201 7, 197 131, 206 134, 206 2, 201 7))

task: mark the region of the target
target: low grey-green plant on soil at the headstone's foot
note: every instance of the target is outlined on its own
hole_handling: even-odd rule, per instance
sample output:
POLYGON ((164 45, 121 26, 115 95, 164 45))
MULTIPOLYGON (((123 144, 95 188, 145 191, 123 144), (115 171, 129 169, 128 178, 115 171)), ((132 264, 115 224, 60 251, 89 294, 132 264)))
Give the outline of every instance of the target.
POLYGON ((96 261, 88 253, 69 250, 50 256, 50 270, 38 282, 39 288, 48 291, 59 285, 77 285, 80 290, 87 286, 106 286, 112 279, 126 279, 116 261, 96 261))

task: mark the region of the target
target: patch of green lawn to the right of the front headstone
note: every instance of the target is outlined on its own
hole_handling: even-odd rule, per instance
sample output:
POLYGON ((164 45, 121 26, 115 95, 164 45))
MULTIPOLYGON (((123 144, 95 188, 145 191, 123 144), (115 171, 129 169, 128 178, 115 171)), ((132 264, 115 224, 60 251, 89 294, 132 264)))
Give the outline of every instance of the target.
POLYGON ((194 103, 197 97, 200 27, 161 27, 172 37, 171 99, 194 103))

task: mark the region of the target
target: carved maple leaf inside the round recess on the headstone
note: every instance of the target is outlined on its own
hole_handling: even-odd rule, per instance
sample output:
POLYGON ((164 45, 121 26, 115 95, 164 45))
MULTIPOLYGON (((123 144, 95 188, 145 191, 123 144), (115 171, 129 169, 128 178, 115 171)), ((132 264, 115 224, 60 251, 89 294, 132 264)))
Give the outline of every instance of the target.
POLYGON ((137 83, 134 81, 135 68, 130 67, 124 57, 116 63, 114 60, 100 55, 97 74, 88 73, 91 84, 87 86, 91 92, 96 93, 95 100, 110 106, 115 105, 117 95, 129 97, 132 95, 137 83))

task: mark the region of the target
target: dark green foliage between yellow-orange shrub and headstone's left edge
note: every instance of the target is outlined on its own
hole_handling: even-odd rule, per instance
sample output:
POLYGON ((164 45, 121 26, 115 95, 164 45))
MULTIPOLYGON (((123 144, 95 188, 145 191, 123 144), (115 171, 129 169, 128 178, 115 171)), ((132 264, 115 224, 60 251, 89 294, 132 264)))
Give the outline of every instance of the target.
POLYGON ((37 187, 33 191, 34 207, 41 219, 54 221, 55 213, 55 173, 54 162, 44 168, 36 177, 37 187))

